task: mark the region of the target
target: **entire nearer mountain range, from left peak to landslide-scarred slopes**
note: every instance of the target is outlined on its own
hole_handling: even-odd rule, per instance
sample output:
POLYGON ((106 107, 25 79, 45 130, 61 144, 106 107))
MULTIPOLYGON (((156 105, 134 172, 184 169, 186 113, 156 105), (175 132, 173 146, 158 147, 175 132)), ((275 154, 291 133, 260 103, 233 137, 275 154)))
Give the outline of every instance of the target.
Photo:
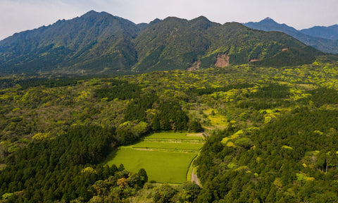
MULTIPOLYGON (((331 40, 331 39, 325 39, 331 40)), ((255 63, 312 63, 321 51, 282 32, 201 16, 135 24, 89 11, 71 20, 16 33, 0 41, 0 73, 145 73, 255 63)))

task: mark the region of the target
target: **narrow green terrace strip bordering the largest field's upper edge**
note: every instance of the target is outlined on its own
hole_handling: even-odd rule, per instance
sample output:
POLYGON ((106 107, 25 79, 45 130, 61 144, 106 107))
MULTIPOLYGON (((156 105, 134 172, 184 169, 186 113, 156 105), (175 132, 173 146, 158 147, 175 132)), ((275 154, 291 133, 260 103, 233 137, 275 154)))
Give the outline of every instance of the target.
POLYGON ((203 147, 203 143, 187 143, 187 142, 139 142, 132 146, 133 148, 153 148, 153 149, 187 149, 199 150, 203 147))

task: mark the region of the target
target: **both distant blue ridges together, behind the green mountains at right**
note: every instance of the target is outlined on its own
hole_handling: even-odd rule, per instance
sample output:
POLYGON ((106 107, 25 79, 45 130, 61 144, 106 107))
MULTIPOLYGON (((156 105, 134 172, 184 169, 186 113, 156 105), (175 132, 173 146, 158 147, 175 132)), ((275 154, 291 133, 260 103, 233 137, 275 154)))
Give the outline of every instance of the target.
POLYGON ((271 18, 265 18, 257 23, 243 23, 243 25, 256 30, 284 32, 308 46, 315 47, 315 49, 338 54, 338 25, 330 27, 316 26, 309 29, 296 30, 294 27, 276 23, 271 18))

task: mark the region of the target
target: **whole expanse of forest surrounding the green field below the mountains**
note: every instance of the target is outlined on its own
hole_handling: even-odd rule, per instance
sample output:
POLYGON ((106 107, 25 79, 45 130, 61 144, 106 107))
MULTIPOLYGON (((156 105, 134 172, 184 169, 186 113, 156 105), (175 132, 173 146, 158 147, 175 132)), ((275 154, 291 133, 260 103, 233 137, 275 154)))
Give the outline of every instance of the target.
POLYGON ((0 202, 337 202, 337 75, 318 59, 0 78, 0 202), (208 135, 194 161, 201 187, 106 165, 161 131, 208 135))

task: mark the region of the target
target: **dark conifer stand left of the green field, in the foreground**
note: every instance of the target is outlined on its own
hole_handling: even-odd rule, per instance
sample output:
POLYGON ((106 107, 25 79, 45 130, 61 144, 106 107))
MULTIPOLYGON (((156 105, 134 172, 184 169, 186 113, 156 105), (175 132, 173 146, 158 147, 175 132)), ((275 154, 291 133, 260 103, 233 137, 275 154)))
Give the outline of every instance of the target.
POLYGON ((99 186, 93 186, 98 180, 122 190, 128 185, 142 186, 145 172, 137 175, 124 171, 123 166, 99 164, 116 145, 114 128, 82 125, 65 135, 32 142, 6 159, 7 167, 0 173, 0 195, 12 199, 10 202, 70 202, 79 197, 88 201, 100 194, 99 186))

